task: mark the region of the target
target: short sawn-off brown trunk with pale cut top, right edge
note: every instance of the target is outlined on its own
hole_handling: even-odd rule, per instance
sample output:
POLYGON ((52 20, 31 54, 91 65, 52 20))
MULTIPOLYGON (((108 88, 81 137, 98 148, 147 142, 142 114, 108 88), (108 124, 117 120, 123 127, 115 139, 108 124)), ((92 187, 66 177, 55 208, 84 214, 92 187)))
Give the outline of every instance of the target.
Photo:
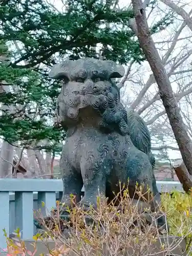
POLYGON ((181 159, 175 161, 173 163, 173 167, 179 181, 183 185, 183 189, 185 190, 186 193, 188 193, 189 190, 192 188, 192 176, 189 175, 188 170, 181 159))

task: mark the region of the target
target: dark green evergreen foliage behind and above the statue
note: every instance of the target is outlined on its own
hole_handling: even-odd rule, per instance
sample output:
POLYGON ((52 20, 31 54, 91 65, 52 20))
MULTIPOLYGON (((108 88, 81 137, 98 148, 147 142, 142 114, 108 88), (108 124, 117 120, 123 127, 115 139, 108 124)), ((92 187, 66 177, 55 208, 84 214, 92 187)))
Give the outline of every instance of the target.
MULTIPOLYGON (((57 10, 45 0, 1 1, 0 55, 12 59, 1 62, 0 81, 11 84, 13 90, 1 93, 0 102, 12 105, 14 111, 4 111, 0 117, 0 136, 10 143, 37 146, 41 140, 58 142, 65 136, 52 121, 60 90, 59 82, 48 77, 55 60, 102 57, 121 64, 144 60, 129 27, 132 9, 114 8, 115 0, 63 3, 62 10, 57 10), (14 46, 9 52, 8 43, 14 46)), ((153 8, 154 3, 148 6, 153 8)), ((170 23, 172 18, 164 16, 151 32, 170 23)))

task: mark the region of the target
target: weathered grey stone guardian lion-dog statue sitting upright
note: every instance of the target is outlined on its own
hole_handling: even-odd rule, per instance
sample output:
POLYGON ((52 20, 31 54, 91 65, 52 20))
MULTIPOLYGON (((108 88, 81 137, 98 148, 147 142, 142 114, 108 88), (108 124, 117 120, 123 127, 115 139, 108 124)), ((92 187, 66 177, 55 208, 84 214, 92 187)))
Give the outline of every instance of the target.
MULTIPOLYGON (((136 182, 151 189, 155 209, 160 194, 150 133, 139 115, 126 112, 112 81, 124 75, 124 68, 110 60, 84 58, 65 60, 53 66, 49 75, 62 80, 57 116, 68 131, 60 159, 61 202, 70 205, 73 194, 77 203, 96 206, 98 195, 113 200, 119 181, 125 185, 129 181, 131 197, 136 182)), ((163 217, 160 222, 164 224, 163 217)))

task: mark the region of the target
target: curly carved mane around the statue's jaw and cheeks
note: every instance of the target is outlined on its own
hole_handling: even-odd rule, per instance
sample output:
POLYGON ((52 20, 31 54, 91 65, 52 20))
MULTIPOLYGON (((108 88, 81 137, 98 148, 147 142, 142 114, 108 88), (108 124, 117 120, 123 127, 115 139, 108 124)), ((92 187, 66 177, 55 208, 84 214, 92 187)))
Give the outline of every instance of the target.
POLYGON ((101 131, 104 133, 116 131, 121 135, 129 133, 127 113, 120 102, 119 89, 111 80, 100 82, 98 94, 93 93, 91 95, 89 93, 87 95, 83 91, 74 94, 70 91, 71 88, 73 86, 70 81, 63 83, 57 100, 56 115, 62 126, 76 126, 80 122, 79 111, 83 108, 91 107, 95 111, 95 115, 101 117, 99 123, 101 131))

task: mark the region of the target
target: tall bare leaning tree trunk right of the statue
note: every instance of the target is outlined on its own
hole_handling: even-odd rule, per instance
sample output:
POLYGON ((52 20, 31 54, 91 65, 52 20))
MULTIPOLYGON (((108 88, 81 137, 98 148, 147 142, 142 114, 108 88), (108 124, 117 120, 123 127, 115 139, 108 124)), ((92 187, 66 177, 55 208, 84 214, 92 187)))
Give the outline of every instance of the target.
POLYGON ((159 95, 163 102, 170 125, 172 126, 183 162, 185 163, 189 174, 192 175, 191 141, 185 129, 184 122, 162 60, 150 35, 142 0, 132 0, 132 4, 135 13, 140 47, 150 64, 155 80, 158 84, 159 95))

